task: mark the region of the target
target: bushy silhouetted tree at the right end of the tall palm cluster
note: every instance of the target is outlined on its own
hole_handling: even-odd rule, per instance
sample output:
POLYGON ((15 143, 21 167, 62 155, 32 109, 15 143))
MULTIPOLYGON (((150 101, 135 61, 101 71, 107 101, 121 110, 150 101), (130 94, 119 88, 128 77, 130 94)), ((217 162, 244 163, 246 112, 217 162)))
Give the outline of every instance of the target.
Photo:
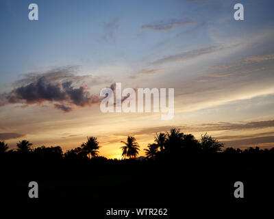
POLYGON ((223 143, 219 142, 216 138, 208 136, 208 133, 201 135, 201 149, 204 153, 217 153, 223 148, 223 143))

